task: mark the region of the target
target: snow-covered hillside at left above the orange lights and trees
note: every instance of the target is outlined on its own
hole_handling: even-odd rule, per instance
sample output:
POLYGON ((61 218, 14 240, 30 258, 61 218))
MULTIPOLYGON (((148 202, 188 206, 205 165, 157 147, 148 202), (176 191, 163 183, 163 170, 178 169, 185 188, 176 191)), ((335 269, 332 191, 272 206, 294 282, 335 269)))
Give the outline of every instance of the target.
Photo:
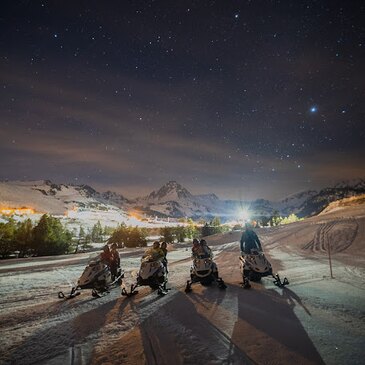
POLYGON ((107 226, 140 223, 119 208, 121 198, 118 200, 117 194, 111 197, 88 185, 54 184, 49 180, 0 182, 0 213, 30 208, 35 214, 24 217, 38 220, 44 213, 61 216, 69 228, 91 227, 97 221, 107 226))

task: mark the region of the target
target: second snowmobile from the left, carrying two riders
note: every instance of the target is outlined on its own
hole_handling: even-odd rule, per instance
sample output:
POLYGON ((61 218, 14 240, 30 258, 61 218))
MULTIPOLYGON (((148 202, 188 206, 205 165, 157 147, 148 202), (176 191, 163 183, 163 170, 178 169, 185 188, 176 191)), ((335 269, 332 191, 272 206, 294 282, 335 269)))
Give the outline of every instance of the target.
POLYGON ((122 288, 122 295, 130 297, 138 293, 139 286, 149 286, 152 290, 157 290, 158 295, 167 294, 167 269, 161 260, 156 260, 152 255, 147 255, 141 259, 141 267, 137 275, 137 281, 131 285, 130 292, 122 288))

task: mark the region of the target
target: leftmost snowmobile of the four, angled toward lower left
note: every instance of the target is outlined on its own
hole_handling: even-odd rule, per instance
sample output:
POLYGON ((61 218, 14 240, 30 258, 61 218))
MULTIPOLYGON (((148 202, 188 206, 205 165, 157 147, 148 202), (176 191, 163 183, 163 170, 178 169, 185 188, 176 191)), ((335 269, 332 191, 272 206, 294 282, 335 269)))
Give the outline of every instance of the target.
POLYGON ((77 281, 77 285, 73 286, 71 293, 65 295, 62 291, 58 293, 60 299, 71 299, 80 294, 81 289, 91 289, 91 295, 100 298, 103 294, 109 293, 109 289, 122 284, 124 271, 118 267, 116 274, 112 275, 110 267, 101 261, 101 257, 94 256, 90 259, 84 272, 77 281))

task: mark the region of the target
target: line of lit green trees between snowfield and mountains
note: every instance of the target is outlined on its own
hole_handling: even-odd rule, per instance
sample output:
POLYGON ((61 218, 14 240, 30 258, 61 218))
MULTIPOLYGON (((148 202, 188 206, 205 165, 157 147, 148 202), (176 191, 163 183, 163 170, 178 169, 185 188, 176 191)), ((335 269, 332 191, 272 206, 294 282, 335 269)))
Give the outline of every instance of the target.
MULTIPOLYGON (((266 222, 261 223, 274 226, 298 220, 300 219, 295 214, 281 217, 274 213, 266 222)), ((180 226, 162 228, 128 227, 125 224, 113 228, 102 227, 98 221, 87 232, 82 226, 78 232, 76 228, 70 232, 62 225, 60 219, 47 214, 44 214, 37 224, 33 224, 30 219, 16 222, 8 218, 7 222, 0 222, 0 258, 8 258, 15 253, 18 257, 26 257, 67 254, 77 252, 79 249, 87 251, 91 248, 92 242, 116 243, 118 247, 145 247, 148 236, 158 236, 160 240, 174 243, 231 229, 221 224, 218 217, 209 222, 200 222, 199 225, 192 219, 184 223, 180 226)), ((235 226, 233 229, 242 227, 235 226)))

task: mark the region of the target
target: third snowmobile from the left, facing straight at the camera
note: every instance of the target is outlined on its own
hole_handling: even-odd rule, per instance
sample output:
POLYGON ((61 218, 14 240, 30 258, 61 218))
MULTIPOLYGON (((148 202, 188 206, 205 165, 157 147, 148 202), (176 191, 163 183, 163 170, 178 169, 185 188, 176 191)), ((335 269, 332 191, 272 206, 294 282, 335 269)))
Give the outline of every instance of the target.
POLYGON ((193 256, 193 264, 190 268, 190 280, 186 282, 185 293, 191 292, 191 285, 200 283, 209 286, 216 282, 220 289, 227 286, 223 279, 218 276, 218 268, 210 255, 193 256))

